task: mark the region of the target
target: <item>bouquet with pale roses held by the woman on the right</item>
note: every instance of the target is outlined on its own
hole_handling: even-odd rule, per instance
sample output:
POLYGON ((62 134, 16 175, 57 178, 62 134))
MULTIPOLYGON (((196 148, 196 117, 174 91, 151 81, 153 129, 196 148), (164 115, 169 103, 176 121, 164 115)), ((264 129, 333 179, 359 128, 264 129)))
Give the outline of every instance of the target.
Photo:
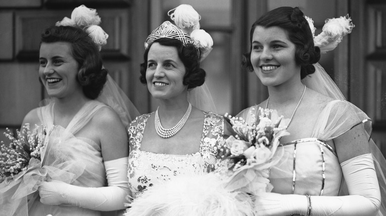
POLYGON ((260 108, 258 120, 247 123, 241 117, 225 115, 236 135, 220 149, 223 160, 217 173, 230 190, 248 194, 270 192, 269 171, 281 158, 281 137, 289 135, 276 110, 260 108))

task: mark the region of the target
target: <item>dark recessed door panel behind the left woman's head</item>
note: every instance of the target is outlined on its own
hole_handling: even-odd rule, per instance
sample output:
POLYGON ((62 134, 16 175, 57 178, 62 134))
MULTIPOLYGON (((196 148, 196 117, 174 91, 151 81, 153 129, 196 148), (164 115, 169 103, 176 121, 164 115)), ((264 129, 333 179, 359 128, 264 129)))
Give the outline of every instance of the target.
MULTIPOLYGON (((15 12, 15 57, 19 61, 37 61, 41 32, 63 17, 71 16, 72 10, 16 11, 15 12)), ((127 9, 97 10, 102 22, 100 26, 109 35, 102 47, 104 60, 130 60, 129 16, 127 9)))

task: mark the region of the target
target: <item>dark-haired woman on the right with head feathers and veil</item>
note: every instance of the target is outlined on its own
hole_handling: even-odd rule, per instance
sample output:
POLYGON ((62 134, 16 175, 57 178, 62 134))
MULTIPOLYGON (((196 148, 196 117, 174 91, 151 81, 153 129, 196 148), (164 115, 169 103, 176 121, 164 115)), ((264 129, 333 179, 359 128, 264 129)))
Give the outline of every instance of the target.
POLYGON ((330 19, 314 36, 312 20, 297 7, 276 8, 252 25, 243 65, 269 97, 238 116, 254 122, 259 108, 276 109, 290 132, 270 169, 272 192, 255 196, 256 215, 385 215, 386 162, 370 139, 371 120, 317 63, 353 27, 348 16, 330 19))

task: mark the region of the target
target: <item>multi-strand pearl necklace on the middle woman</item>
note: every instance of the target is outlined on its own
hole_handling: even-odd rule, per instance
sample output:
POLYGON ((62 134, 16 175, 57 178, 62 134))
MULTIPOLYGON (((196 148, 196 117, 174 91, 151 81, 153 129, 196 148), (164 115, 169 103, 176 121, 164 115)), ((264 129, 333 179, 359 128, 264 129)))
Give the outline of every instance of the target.
POLYGON ((155 117, 154 117, 155 131, 157 132, 158 136, 166 139, 176 135, 181 130, 181 128, 185 125, 186 121, 189 118, 189 115, 191 114, 192 104, 189 103, 189 107, 186 110, 184 116, 182 116, 181 120, 174 127, 168 128, 168 129, 162 127, 161 125, 161 121, 159 120, 159 115, 158 115, 158 108, 155 111, 155 117))

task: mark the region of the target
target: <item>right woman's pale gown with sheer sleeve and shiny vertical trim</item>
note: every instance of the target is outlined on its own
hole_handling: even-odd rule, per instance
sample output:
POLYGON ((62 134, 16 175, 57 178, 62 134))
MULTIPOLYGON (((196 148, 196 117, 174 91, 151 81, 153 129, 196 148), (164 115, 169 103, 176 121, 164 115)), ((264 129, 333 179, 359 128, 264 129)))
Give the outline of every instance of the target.
MULTIPOLYGON (((259 115, 258 107, 246 108, 238 116, 247 122, 255 121, 255 116, 259 115)), ((385 185, 382 169, 385 168, 377 161, 377 158, 383 157, 374 156, 379 150, 375 149, 376 146, 370 139, 371 120, 362 110, 344 100, 334 100, 326 105, 319 115, 311 137, 279 146, 284 148, 285 154, 280 162, 271 168, 270 181, 274 186, 272 192, 312 196, 348 195, 337 153, 327 142, 359 124, 363 124, 369 135, 381 194, 385 194, 385 187, 382 192, 382 185, 385 185)), ((385 173, 385 170, 383 172, 385 173)), ((383 201, 381 212, 384 210, 383 201)))

